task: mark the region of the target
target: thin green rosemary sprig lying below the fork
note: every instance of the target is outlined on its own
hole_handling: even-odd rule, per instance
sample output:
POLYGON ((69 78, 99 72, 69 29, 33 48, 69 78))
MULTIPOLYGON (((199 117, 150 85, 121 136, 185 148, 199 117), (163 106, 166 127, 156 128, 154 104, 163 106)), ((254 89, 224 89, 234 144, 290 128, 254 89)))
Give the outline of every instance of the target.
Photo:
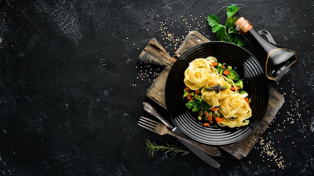
POLYGON ((148 152, 149 157, 153 156, 153 154, 158 150, 166 151, 166 153, 172 152, 171 153, 172 157, 175 157, 177 155, 177 153, 180 153, 180 152, 182 152, 181 155, 188 154, 190 152, 190 151, 186 151, 185 149, 181 149, 180 147, 178 147, 176 145, 170 145, 168 143, 167 143, 167 146, 158 145, 155 142, 151 142, 149 140, 149 137, 148 137, 148 139, 146 139, 146 147, 145 148, 146 148, 146 152, 148 152))

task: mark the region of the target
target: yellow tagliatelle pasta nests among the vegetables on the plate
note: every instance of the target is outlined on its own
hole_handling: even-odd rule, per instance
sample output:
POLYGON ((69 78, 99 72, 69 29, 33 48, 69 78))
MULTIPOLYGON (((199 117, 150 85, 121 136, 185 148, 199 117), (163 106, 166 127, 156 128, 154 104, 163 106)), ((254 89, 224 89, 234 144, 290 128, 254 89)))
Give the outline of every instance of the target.
MULTIPOLYGON (((185 70, 184 82, 187 87, 196 92, 200 90, 200 101, 206 101, 210 109, 199 110, 201 113, 211 111, 213 115, 207 115, 208 121, 216 117, 220 126, 240 127, 249 123, 248 118, 252 110, 247 101, 247 92, 237 91, 234 80, 219 72, 214 65, 215 57, 197 58, 190 62, 185 70), (214 109, 214 110, 213 110, 214 109)), ((217 67, 217 66, 216 66, 217 67)), ((229 71, 228 69, 224 69, 229 71)), ((242 80, 241 80, 242 82, 242 80)), ((195 96, 198 97, 198 96, 195 96)), ((192 100, 193 98, 191 98, 192 100)), ((196 111, 196 110, 195 110, 196 111)))

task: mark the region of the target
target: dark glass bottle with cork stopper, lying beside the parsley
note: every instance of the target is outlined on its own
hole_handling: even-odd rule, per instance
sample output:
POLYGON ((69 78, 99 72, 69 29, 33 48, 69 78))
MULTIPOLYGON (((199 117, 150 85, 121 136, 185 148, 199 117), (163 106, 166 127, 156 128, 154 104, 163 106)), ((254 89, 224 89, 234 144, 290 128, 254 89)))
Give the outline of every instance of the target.
POLYGON ((294 50, 279 48, 264 39, 243 17, 234 23, 236 29, 249 41, 261 54, 261 64, 265 65, 266 76, 270 80, 278 81, 298 62, 294 50))

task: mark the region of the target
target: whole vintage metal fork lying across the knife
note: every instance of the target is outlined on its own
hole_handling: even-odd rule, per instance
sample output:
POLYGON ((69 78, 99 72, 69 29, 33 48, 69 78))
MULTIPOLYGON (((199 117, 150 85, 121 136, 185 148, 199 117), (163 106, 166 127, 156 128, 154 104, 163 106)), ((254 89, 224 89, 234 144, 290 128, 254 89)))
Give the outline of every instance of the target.
POLYGON ((170 131, 165 124, 160 123, 158 121, 140 116, 137 124, 146 128, 146 129, 149 129, 155 133, 161 134, 161 135, 170 134, 170 135, 176 136, 176 137, 178 137, 178 138, 180 138, 186 142, 189 142, 189 143, 195 145, 196 147, 200 148, 201 150, 205 151, 206 153, 208 153, 210 155, 219 155, 220 154, 220 153, 217 153, 217 154, 214 153, 213 154, 213 149, 211 146, 201 144, 199 142, 196 142, 196 141, 189 139, 187 137, 184 137, 182 135, 178 135, 178 134, 170 131))

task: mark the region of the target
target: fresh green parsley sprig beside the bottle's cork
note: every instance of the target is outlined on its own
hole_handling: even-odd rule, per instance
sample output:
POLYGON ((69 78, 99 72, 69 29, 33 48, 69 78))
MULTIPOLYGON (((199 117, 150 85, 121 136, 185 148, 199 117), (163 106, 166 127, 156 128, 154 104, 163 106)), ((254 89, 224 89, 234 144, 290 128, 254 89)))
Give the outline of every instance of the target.
POLYGON ((225 25, 219 23, 219 18, 215 14, 207 15, 207 22, 212 27, 212 32, 217 33, 217 39, 228 41, 239 46, 245 45, 245 39, 239 37, 239 32, 235 29, 234 22, 238 17, 234 14, 239 10, 235 4, 227 7, 227 19, 225 25))

